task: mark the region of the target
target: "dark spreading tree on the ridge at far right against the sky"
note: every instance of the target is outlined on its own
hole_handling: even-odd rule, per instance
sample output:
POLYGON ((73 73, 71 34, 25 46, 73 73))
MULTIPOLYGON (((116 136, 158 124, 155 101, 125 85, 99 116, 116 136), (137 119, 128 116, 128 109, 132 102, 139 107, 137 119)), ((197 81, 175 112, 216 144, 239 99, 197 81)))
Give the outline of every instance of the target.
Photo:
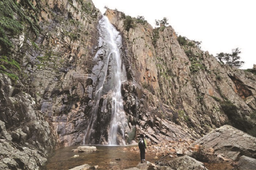
POLYGON ((241 54, 241 51, 236 48, 232 49, 232 53, 219 53, 217 54, 216 58, 221 62, 235 67, 241 67, 244 64, 244 61, 238 61, 241 57, 238 56, 241 54))

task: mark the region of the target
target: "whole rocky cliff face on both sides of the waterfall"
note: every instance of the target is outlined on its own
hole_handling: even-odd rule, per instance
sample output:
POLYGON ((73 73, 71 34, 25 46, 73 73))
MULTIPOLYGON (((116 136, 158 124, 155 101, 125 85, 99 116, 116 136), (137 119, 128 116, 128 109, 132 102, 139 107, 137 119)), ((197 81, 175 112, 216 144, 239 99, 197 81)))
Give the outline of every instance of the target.
MULTIPOLYGON (((94 108, 88 75, 97 64, 101 13, 90 0, 3 3, 10 15, 0 12, 0 164, 37 169, 53 148, 83 143, 94 108)), ((126 29, 123 13, 108 9, 106 16, 123 38, 127 143, 141 132, 154 143, 198 139, 234 124, 234 115, 251 121, 254 74, 220 65, 193 41, 180 45, 170 26, 153 29, 132 19, 136 26, 126 29)), ((99 103, 93 143, 108 140, 111 95, 99 103)), ((237 126, 250 131, 255 122, 237 126)))

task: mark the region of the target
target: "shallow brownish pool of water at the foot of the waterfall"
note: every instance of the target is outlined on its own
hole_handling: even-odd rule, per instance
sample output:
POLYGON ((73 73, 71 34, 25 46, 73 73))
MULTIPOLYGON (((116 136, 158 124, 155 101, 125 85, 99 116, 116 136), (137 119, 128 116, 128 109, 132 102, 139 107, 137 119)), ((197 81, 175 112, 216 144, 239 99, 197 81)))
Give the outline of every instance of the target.
MULTIPOLYGON (((78 146, 64 147, 56 150, 52 157, 48 158, 47 164, 41 169, 61 170, 71 169, 76 166, 89 164, 91 166, 98 165, 98 169, 111 169, 113 166, 109 162, 116 162, 120 169, 136 167, 140 163, 140 153, 129 151, 135 146, 96 146, 98 151, 90 154, 83 152, 75 153, 72 149, 78 146), (127 150, 128 149, 128 150, 127 150), (79 155, 77 158, 72 158, 74 155, 79 155), (116 161, 120 158, 120 161, 116 161)), ((146 161, 154 163, 155 155, 151 155, 146 151, 146 161)))

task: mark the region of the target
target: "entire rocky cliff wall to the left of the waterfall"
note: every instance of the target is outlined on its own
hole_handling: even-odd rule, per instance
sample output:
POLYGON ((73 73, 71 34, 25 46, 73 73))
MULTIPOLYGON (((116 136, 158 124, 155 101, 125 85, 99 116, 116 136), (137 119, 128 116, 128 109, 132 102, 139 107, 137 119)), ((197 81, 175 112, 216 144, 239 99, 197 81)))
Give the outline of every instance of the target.
POLYGON ((38 169, 56 146, 82 142, 101 14, 91 0, 0 5, 0 164, 38 169))

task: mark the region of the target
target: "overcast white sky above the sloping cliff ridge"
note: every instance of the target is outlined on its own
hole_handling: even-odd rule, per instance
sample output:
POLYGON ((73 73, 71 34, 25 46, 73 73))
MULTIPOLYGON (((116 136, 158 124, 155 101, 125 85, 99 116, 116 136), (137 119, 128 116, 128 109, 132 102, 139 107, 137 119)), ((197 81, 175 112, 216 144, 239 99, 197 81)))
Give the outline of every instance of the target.
POLYGON ((102 13, 104 6, 125 15, 144 16, 153 27, 166 17, 178 35, 202 41, 201 47, 214 56, 240 48, 241 69, 256 64, 255 0, 93 0, 102 13))

